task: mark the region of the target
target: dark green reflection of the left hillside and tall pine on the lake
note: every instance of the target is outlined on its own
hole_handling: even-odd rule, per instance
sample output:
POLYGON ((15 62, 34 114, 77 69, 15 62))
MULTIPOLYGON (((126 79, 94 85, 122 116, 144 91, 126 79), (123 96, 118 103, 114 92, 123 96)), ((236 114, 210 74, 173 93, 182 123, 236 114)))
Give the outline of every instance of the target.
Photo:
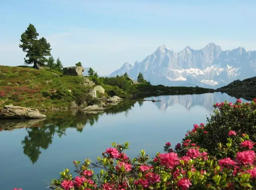
MULTIPOLYGON (((128 113, 134 107, 136 101, 123 101, 103 113, 90 114, 78 111, 63 111, 63 112, 50 112, 46 113, 47 118, 44 120, 30 120, 31 125, 25 125, 27 135, 21 141, 24 154, 29 157, 34 164, 41 154, 42 149, 48 149, 53 142, 54 135, 62 137, 66 135, 67 128, 76 128, 77 131, 82 132, 85 126, 93 126, 99 119, 100 115, 107 114, 113 115, 124 112, 128 113), (29 127, 29 128, 28 128, 29 127)), ((1 121, 0 121, 1 122, 1 121)), ((8 128, 1 128, 4 130, 13 130, 20 128, 21 124, 28 124, 27 121, 5 121, 5 126, 8 128), (9 127, 11 126, 11 128, 9 127)), ((1 125, 3 126, 3 125, 1 125)))

